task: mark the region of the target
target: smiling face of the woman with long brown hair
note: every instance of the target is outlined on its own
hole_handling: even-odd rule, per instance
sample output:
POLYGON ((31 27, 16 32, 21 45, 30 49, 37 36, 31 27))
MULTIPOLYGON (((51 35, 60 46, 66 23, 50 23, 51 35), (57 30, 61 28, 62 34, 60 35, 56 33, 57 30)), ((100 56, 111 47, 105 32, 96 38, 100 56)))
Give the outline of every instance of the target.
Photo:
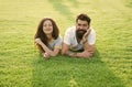
POLYGON ((53 24, 50 20, 46 20, 44 23, 43 23, 43 32, 45 34, 52 34, 53 32, 53 24))

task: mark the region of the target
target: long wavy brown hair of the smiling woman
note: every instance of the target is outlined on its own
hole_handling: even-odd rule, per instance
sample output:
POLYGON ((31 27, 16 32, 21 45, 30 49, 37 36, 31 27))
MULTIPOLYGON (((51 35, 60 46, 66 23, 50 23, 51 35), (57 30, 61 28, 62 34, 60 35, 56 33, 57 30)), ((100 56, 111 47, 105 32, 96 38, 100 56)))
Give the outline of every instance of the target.
MULTIPOLYGON (((55 21, 52 20, 52 19, 50 19, 50 18, 44 18, 44 19, 40 22, 40 24, 38 24, 38 26, 37 26, 37 31, 36 31, 36 33, 35 33, 34 40, 37 39, 37 37, 40 37, 41 41, 47 46, 47 45, 48 45, 48 39, 47 39, 46 34, 43 32, 43 24, 44 24, 44 22, 45 22, 46 20, 50 20, 50 21, 52 22, 52 24, 53 24, 52 37, 55 39, 55 40, 58 37, 58 35, 59 35, 59 30, 58 30, 57 24, 55 23, 55 21)), ((38 47, 41 48, 41 51, 44 52, 44 50, 42 48, 42 46, 38 45, 38 47)))

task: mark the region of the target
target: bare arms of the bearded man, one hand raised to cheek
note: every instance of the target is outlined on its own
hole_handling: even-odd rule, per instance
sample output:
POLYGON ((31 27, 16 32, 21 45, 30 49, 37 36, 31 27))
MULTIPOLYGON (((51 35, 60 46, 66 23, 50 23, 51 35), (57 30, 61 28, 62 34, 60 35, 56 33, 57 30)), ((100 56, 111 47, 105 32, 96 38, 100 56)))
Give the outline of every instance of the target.
POLYGON ((72 57, 90 57, 95 53, 95 44, 90 45, 87 42, 87 36, 89 35, 90 30, 88 30, 85 35, 82 36, 82 44, 84 44, 84 51, 79 53, 75 53, 70 51, 70 45, 63 43, 62 54, 68 55, 72 57))

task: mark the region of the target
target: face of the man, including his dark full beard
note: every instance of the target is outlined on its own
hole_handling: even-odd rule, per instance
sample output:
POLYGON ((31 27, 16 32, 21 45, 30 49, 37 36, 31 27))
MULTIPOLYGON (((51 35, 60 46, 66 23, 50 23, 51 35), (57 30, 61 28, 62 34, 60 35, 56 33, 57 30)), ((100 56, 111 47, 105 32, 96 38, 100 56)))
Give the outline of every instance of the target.
POLYGON ((87 21, 78 20, 76 23, 76 36, 81 40, 88 29, 89 24, 87 21))

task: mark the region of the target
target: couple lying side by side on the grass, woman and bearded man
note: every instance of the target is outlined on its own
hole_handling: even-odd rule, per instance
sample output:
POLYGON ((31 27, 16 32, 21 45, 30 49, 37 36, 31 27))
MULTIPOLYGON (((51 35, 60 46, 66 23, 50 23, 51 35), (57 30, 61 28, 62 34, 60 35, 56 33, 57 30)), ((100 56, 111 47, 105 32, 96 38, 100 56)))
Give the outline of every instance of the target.
POLYGON ((95 53, 96 42, 96 33, 90 28, 90 21, 87 14, 79 14, 76 25, 68 28, 62 39, 55 21, 45 18, 40 22, 34 36, 35 45, 45 58, 56 56, 61 51, 62 55, 88 58, 95 53))

